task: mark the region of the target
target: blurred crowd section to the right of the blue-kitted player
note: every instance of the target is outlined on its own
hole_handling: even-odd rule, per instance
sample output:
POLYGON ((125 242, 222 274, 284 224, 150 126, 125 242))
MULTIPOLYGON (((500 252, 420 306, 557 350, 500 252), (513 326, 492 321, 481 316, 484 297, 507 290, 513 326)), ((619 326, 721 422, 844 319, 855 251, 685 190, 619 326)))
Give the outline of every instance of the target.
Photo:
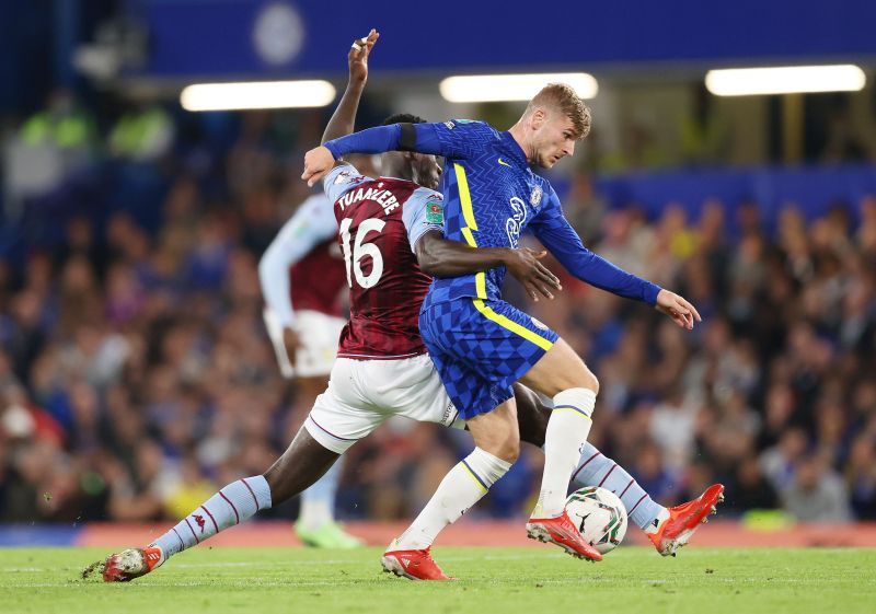
POLYGON ((774 235, 756 204, 701 213, 607 210, 590 236, 691 300, 692 333, 584 285, 537 308, 596 366, 591 441, 661 501, 721 480, 725 514, 876 519, 876 197, 808 223, 788 204, 774 235))

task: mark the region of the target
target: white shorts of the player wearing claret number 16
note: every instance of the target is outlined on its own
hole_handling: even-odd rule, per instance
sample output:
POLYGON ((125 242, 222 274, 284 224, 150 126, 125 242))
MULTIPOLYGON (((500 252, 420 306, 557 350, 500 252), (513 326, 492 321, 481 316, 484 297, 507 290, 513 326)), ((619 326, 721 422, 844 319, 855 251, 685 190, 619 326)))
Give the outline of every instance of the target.
POLYGON ((393 416, 465 427, 424 354, 401 360, 338 358, 304 428, 324 448, 343 454, 393 416))

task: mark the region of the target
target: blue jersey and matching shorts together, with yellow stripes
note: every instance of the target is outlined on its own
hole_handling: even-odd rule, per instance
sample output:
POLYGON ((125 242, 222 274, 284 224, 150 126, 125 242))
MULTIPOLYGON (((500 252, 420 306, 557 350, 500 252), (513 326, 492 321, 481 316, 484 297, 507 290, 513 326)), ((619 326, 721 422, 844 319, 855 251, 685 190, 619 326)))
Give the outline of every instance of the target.
MULTIPOLYGON (((441 192, 445 235, 473 247, 517 247, 527 228, 569 273, 604 290, 649 304, 659 288, 619 269, 583 244, 551 184, 529 166, 509 132, 482 121, 381 126, 325 143, 346 153, 410 150, 446 159, 441 192)), ((463 418, 509 399, 558 338, 502 300, 505 269, 436 279, 423 303, 419 332, 463 418)))

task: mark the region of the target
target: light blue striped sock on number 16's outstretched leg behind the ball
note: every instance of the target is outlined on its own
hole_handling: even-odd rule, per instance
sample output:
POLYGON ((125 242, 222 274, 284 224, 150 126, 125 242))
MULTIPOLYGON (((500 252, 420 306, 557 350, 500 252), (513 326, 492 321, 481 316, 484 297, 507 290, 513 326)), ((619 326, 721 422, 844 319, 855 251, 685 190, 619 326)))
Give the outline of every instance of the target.
POLYGON ((650 528, 665 509, 654 502, 626 470, 589 442, 581 448, 581 457, 578 468, 572 474, 572 482, 578 486, 601 486, 618 495, 626 507, 630 522, 642 530, 650 528))

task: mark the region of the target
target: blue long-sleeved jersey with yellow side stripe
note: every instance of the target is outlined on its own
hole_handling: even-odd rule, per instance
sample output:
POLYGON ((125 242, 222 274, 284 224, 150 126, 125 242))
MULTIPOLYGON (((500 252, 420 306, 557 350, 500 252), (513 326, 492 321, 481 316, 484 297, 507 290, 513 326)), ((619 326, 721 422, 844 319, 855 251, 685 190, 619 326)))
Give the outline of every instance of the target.
MULTIPOLYGON (((627 299, 655 304, 660 288, 587 250, 563 216, 551 184, 529 167, 509 132, 483 121, 393 124, 324 143, 335 159, 349 152, 402 149, 443 155, 445 235, 473 247, 517 247, 530 229, 575 277, 627 299)), ((436 279, 427 300, 499 300, 505 268, 436 279)))

